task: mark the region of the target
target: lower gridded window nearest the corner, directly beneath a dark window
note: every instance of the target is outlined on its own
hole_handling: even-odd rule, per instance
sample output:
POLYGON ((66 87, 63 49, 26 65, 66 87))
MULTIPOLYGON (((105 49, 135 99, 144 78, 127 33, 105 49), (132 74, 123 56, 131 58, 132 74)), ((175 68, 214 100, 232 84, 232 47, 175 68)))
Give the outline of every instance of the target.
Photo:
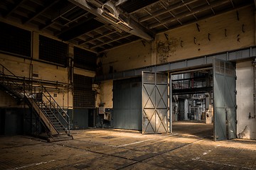
POLYGON ((92 91, 92 77, 74 74, 74 108, 95 108, 95 91, 92 91))

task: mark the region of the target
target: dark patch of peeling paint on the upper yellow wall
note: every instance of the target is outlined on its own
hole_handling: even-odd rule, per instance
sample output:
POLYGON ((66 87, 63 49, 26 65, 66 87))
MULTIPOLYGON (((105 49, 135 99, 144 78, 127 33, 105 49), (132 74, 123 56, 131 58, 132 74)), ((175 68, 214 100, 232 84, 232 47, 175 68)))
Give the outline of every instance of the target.
POLYGON ((177 38, 167 38, 166 41, 157 42, 157 55, 160 63, 168 62, 168 58, 174 55, 176 52, 176 48, 178 47, 178 39, 177 38))

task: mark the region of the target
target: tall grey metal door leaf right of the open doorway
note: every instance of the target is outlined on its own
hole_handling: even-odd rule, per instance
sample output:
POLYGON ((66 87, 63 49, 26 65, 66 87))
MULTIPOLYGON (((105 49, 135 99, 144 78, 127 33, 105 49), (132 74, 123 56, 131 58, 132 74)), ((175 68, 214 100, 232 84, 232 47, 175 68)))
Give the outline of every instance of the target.
POLYGON ((236 137, 235 67, 213 60, 214 140, 236 137))

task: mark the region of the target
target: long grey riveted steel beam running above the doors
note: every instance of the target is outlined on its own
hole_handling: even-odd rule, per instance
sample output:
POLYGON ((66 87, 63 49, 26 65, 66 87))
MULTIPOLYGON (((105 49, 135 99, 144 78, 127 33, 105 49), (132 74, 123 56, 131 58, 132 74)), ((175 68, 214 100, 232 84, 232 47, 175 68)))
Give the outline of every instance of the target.
POLYGON ((225 61, 238 61, 246 60, 256 57, 256 46, 247 47, 245 49, 233 50, 227 52, 220 52, 213 55, 205 55, 196 57, 193 59, 180 60, 176 62, 169 62, 166 64, 152 65, 149 67, 142 67, 138 69, 131 69, 124 72, 115 72, 112 74, 105 74, 95 77, 95 81, 104 81, 108 79, 127 79, 130 77, 139 77, 142 75, 142 71, 149 72, 178 72, 181 70, 195 69, 209 67, 213 64, 213 58, 225 60, 225 61))

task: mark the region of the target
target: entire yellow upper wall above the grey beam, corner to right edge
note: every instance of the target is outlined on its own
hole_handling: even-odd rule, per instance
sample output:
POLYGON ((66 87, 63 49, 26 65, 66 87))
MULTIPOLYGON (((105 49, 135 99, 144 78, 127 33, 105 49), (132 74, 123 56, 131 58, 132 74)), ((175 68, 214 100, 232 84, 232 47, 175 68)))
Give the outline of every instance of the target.
POLYGON ((102 57, 103 72, 108 74, 110 66, 117 72, 122 72, 151 64, 174 62, 253 46, 255 45, 254 8, 254 6, 246 6, 198 21, 196 23, 200 31, 196 23, 191 23, 159 33, 154 41, 146 42, 145 46, 142 41, 137 41, 114 48, 102 57))

